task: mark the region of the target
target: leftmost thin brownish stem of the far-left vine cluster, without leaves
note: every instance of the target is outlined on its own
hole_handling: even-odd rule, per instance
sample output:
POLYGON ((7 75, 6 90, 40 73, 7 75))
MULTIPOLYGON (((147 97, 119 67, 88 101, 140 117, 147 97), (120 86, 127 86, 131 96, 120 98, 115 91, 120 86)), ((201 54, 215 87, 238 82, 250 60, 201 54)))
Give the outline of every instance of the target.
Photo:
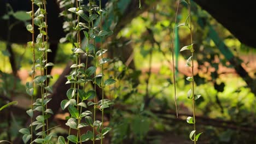
MULTIPOLYGON (((35 52, 34 52, 34 0, 31 1, 31 7, 32 7, 32 27, 33 27, 33 33, 32 33, 32 55, 33 55, 33 68, 32 68, 32 88, 34 89, 34 69, 35 69, 35 62, 36 62, 36 56, 35 56, 35 52)), ((33 94, 31 96, 31 110, 33 110, 33 94)), ((31 121, 31 127, 30 127, 30 131, 31 131, 31 139, 30 142, 33 141, 33 117, 30 118, 31 121)))

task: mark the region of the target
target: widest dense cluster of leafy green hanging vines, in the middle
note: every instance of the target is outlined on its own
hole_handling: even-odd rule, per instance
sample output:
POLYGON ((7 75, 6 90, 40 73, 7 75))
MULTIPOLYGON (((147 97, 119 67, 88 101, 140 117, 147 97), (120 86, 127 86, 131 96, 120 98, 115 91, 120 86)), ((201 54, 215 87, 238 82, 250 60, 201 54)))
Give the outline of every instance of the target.
MULTIPOLYGON (((69 88, 67 91, 68 99, 61 102, 61 108, 63 110, 67 108, 71 114, 71 117, 68 117, 68 121, 66 123, 66 125, 69 126, 67 143, 69 143, 69 141, 82 143, 88 140, 95 143, 95 140, 100 139, 101 143, 103 143, 102 140, 104 135, 106 135, 110 130, 110 128, 103 128, 104 109, 112 104, 110 100, 104 99, 104 86, 111 85, 115 80, 108 79, 104 81, 103 79, 103 64, 110 61, 110 59, 103 58, 103 54, 106 50, 102 49, 102 38, 107 37, 112 32, 102 30, 101 19, 100 27, 94 26, 94 21, 104 10, 101 9, 101 1, 100 7, 92 5, 92 3, 92 1, 89 1, 88 7, 88 5, 82 4, 82 1, 75 1, 76 7, 68 9, 69 12, 77 17, 77 23, 75 24, 75 27, 73 27, 76 32, 76 41, 73 43, 73 46, 75 47, 72 49, 75 64, 71 66, 73 69, 72 74, 67 76, 68 81, 66 82, 66 84, 71 83, 72 88, 69 88), (89 16, 86 13, 89 13, 89 16), (82 21, 85 21, 86 23, 82 21), (82 45, 82 38, 80 36, 82 30, 86 38, 85 46, 82 45), (101 49, 98 51, 95 46, 95 38, 101 39, 101 49), (93 42, 91 43, 91 41, 93 42), (86 58, 83 59, 82 56, 85 56, 86 58), (89 57, 94 59, 94 66, 88 66, 90 64, 89 57), (96 59, 98 58, 100 58, 98 64, 101 66, 102 72, 96 75, 96 59), (94 77, 92 77, 92 75, 94 75, 94 77), (95 98, 95 86, 94 90, 86 91, 86 89, 88 89, 86 88, 86 85, 91 81, 102 88, 102 100, 98 102, 95 98), (94 99, 94 101, 88 101, 91 99, 94 99), (88 101, 87 105, 86 101, 88 101), (90 116, 92 114, 91 111, 85 110, 87 106, 91 105, 94 105, 94 118, 90 116), (96 109, 102 111, 101 121, 96 120, 96 109), (85 123, 82 122, 82 118, 85 119, 85 123), (80 129, 83 127, 91 127, 93 130, 88 130, 86 134, 81 134, 80 129), (71 135, 71 129, 77 130, 77 135, 71 135), (99 133, 98 135, 96 135, 95 129, 97 130, 97 133, 99 133)), ((65 143, 65 138, 60 136, 58 141, 59 143, 65 143)))

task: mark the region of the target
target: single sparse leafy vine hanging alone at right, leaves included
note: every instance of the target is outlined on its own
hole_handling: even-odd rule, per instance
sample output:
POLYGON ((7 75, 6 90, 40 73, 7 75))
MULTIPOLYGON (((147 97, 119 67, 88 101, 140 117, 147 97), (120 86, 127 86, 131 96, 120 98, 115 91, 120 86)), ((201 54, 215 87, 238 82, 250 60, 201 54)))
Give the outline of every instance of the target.
POLYGON ((191 76, 187 77, 186 79, 192 83, 192 87, 189 89, 188 93, 187 93, 187 97, 188 99, 192 100, 192 111, 193 111, 193 117, 188 117, 187 118, 187 123, 189 124, 193 124, 194 130, 190 132, 189 134, 189 138, 190 140, 194 141, 194 143, 196 143, 196 141, 199 139, 199 136, 202 133, 196 134, 196 119, 195 119, 195 100, 199 99, 201 97, 201 94, 196 94, 194 93, 194 89, 195 89, 195 79, 194 79, 194 44, 193 44, 193 29, 192 29, 192 22, 191 22, 191 3, 190 1, 182 1, 185 2, 186 4, 188 4, 188 11, 189 11, 189 15, 187 16, 185 23, 182 23, 179 26, 185 26, 189 29, 190 32, 190 45, 188 46, 183 46, 182 49, 180 51, 184 51, 184 50, 189 50, 191 52, 191 56, 187 59, 187 63, 186 63, 186 67, 190 67, 191 68, 191 76))

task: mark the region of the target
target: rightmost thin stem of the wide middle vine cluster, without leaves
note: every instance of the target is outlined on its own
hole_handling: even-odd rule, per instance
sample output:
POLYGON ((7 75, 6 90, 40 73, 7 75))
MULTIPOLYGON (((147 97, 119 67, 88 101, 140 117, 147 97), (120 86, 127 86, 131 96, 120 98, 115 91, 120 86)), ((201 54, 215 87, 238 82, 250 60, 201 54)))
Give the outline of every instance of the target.
MULTIPOLYGON (((100 10, 101 10, 101 0, 100 0, 100 10)), ((102 12, 100 11, 100 29, 102 31, 102 12)), ((102 50, 102 37, 101 37, 101 58, 103 58, 103 50, 102 50)), ((102 79, 101 79, 101 86, 102 86, 102 105, 104 104, 104 73, 103 73, 103 64, 101 65, 101 73, 102 73, 102 79)), ((103 125, 104 123, 104 109, 102 109, 101 111, 101 144, 103 143, 103 135, 102 135, 102 131, 103 131, 103 125)))

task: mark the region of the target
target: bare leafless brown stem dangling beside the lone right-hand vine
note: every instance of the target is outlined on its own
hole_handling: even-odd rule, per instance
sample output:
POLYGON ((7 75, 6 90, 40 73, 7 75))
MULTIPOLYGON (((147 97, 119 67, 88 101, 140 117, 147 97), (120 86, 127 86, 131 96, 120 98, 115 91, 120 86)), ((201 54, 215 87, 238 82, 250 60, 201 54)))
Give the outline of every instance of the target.
POLYGON ((175 108, 176 108, 176 116, 178 117, 178 109, 177 109, 177 98, 176 98, 176 77, 175 77, 175 66, 174 66, 174 34, 175 34, 175 27, 176 27, 176 22, 177 22, 177 15, 178 15, 178 10, 179 10, 179 1, 176 9, 176 15, 175 15, 175 20, 174 20, 174 28, 172 31, 172 70, 173 70, 173 83, 174 83, 174 103, 175 103, 175 108))

